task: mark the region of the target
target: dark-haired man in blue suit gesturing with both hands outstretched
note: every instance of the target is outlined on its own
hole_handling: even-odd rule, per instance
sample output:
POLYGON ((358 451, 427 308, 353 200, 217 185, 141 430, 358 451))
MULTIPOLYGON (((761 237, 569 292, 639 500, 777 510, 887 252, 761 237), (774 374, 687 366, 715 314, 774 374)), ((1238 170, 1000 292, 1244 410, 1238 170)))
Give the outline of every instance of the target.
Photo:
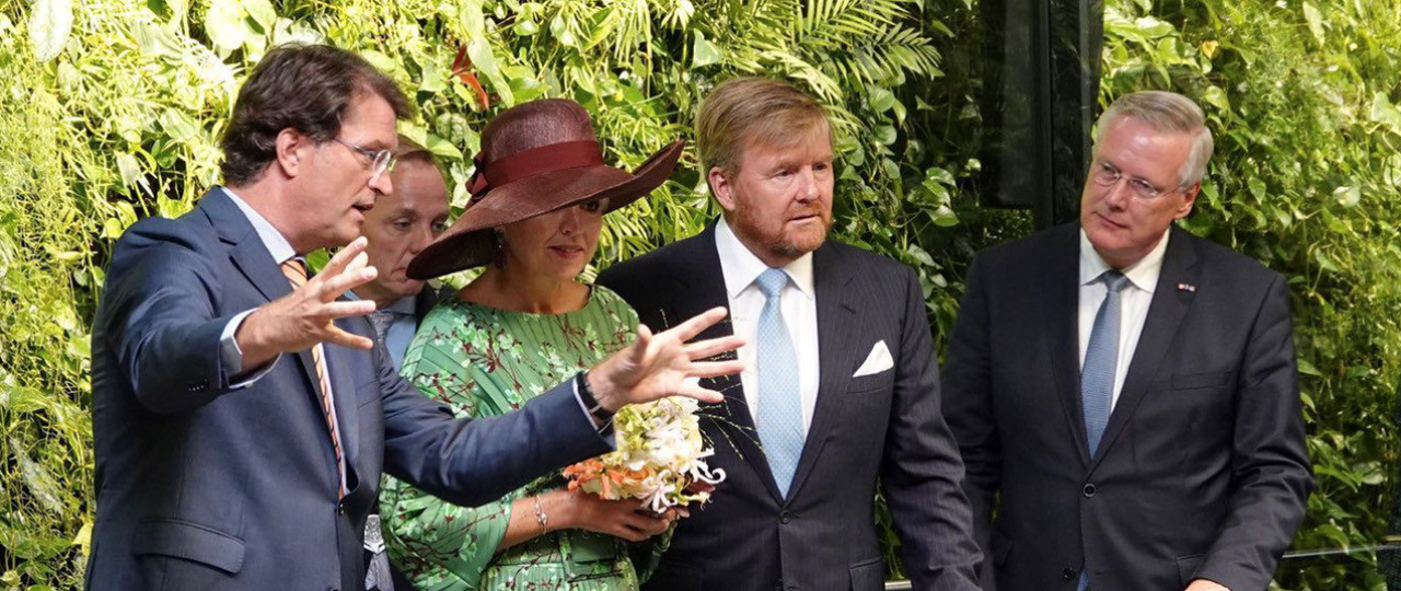
POLYGON ((268 52, 223 137, 227 186, 116 242, 92 331, 97 522, 88 590, 378 587, 363 545, 381 472, 474 506, 612 448, 626 403, 740 371, 686 345, 724 317, 640 331, 623 352, 485 420, 398 377, 347 300, 378 276, 360 237, 394 193, 409 104, 364 59, 268 52), (342 248, 343 246, 343 248, 342 248), (304 256, 342 248, 315 276, 304 256))

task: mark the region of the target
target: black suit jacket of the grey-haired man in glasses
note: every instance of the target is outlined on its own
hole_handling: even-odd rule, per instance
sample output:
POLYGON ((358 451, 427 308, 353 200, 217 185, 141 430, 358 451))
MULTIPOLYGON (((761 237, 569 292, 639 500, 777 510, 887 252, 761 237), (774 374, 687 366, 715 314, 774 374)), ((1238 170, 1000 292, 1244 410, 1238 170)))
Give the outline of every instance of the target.
POLYGON ((1079 259, 1077 224, 979 253, 948 347, 996 588, 1075 590, 1084 564, 1104 591, 1264 590, 1313 486, 1285 279, 1174 227, 1091 459, 1079 259))

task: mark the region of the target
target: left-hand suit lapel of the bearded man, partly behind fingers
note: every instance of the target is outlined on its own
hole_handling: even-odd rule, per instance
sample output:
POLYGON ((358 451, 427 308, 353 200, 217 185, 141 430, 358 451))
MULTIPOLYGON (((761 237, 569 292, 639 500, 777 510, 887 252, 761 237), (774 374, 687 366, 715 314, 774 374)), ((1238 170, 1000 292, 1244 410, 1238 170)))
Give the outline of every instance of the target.
MULTIPOLYGON (((675 298, 675 308, 668 310, 672 317, 667 318, 670 325, 677 325, 715 307, 730 307, 730 296, 724 288, 724 272, 720 267, 720 253, 715 248, 715 224, 692 239, 678 242, 677 263, 671 266, 672 280, 678 283, 678 294, 689 297, 675 298)), ((670 328, 670 326, 668 326, 670 328)), ((723 321, 696 339, 715 339, 734 335, 734 325, 723 321)), ((759 448, 758 431, 754 429, 754 416, 750 413, 750 403, 744 398, 744 387, 738 375, 726 375, 702 381, 706 388, 724 394, 720 405, 702 406, 702 415, 710 415, 719 431, 729 441, 710 441, 710 445, 733 445, 740 458, 748 464, 759 476, 769 494, 782 503, 779 487, 773 483, 773 472, 769 469, 768 458, 759 448)))

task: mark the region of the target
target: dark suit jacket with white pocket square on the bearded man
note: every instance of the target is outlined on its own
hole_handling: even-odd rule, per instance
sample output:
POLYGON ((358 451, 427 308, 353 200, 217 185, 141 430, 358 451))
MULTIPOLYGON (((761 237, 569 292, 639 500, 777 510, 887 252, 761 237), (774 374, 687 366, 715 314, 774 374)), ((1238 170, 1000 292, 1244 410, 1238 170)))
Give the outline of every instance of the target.
MULTIPOLYGON (((972 590, 978 549, 962 465, 940 416, 939 377, 915 273, 894 260, 828 242, 814 252, 820 389, 797 472, 780 499, 738 377, 709 387, 726 402, 702 429, 729 478, 710 504, 681 521, 649 590, 884 588, 874 524, 880 479, 918 590, 972 590), (894 368, 853 378, 884 340, 894 368)), ((598 283, 644 324, 675 325, 729 305, 713 225, 616 265, 598 283)), ((731 333, 720 324, 702 335, 731 333)))

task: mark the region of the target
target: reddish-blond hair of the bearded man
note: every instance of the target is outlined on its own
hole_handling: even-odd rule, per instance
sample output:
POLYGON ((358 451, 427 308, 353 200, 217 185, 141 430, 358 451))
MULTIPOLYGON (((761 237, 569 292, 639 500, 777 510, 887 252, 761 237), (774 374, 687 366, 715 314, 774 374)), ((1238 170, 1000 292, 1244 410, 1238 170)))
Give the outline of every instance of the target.
POLYGON ((780 80, 741 77, 715 88, 696 118, 696 148, 702 175, 712 168, 740 171, 744 146, 750 141, 792 146, 818 126, 831 140, 827 111, 813 97, 780 80))

